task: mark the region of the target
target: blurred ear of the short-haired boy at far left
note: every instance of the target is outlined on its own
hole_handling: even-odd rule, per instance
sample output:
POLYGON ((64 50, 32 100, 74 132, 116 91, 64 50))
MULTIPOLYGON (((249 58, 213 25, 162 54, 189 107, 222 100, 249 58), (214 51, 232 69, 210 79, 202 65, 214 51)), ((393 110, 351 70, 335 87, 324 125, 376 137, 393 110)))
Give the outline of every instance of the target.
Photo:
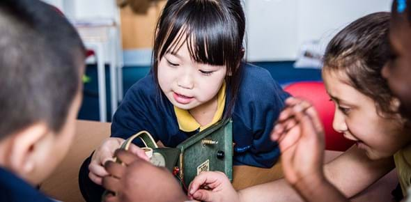
MULTIPOLYGON (((47 137, 49 133, 45 123, 35 123, 24 130, 13 134, 10 140, 10 155, 8 162, 10 169, 26 178, 36 166, 36 155, 38 155, 38 145, 47 137)), ((40 149, 41 150, 41 149, 40 149)))

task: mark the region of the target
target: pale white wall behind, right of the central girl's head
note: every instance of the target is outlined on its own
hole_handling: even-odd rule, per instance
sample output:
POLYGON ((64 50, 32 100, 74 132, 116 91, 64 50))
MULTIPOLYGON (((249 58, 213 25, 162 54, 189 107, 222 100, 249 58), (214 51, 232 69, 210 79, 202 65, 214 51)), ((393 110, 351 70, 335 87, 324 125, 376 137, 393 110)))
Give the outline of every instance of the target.
POLYGON ((246 0, 249 61, 295 60, 302 43, 326 44, 348 23, 391 0, 246 0))

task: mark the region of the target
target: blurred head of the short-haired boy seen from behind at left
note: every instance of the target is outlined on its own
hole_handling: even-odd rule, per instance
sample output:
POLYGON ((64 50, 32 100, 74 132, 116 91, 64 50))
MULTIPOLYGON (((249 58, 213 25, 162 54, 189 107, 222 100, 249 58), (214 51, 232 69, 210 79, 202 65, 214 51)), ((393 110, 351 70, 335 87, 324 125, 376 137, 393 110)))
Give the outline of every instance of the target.
POLYGON ((34 184, 63 159, 84 59, 77 31, 52 6, 0 1, 0 166, 34 184))

